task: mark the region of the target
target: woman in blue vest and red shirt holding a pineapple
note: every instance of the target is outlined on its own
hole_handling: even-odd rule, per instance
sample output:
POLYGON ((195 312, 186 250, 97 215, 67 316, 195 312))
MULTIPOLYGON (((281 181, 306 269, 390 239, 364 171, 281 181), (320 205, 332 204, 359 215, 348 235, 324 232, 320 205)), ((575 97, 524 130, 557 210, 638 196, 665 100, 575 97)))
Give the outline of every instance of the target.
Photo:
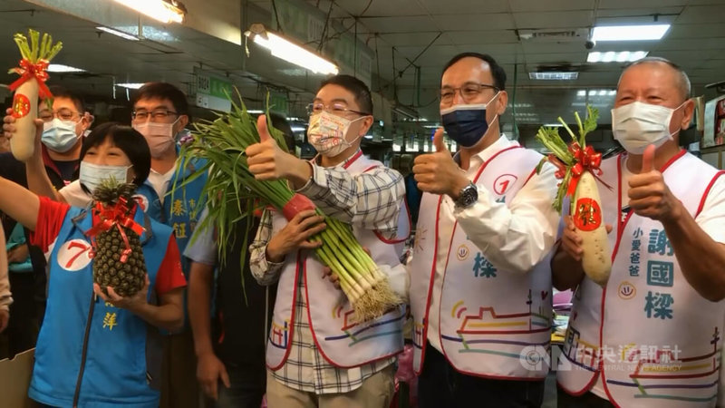
MULTIPOLYGON (((4 130, 14 132, 7 118, 4 130)), ((81 160, 82 185, 96 200, 87 209, 0 178, 0 210, 33 230, 32 243, 49 258, 48 308, 28 393, 58 407, 158 407, 150 382, 159 367, 150 350, 160 338, 150 325, 183 324, 186 280, 172 229, 131 198, 149 175, 150 151, 137 131, 104 124, 88 136, 81 160)))

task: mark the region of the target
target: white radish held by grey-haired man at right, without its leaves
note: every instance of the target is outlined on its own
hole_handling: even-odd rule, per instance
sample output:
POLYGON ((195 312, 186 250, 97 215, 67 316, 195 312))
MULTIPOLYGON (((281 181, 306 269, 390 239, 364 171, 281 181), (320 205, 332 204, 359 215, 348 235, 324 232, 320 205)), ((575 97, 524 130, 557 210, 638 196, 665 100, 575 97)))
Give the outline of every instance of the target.
POLYGON ((612 271, 609 241, 596 180, 589 171, 582 174, 572 202, 572 221, 582 238, 582 267, 587 277, 604 287, 612 271))

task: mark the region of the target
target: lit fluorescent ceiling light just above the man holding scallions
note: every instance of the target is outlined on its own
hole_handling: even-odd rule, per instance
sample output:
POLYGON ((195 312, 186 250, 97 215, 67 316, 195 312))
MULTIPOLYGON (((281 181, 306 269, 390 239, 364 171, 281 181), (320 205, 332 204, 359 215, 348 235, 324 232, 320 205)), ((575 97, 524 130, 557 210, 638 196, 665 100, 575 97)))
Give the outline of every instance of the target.
POLYGON ((300 45, 294 44, 285 38, 267 31, 263 24, 252 24, 245 33, 255 44, 269 50, 272 55, 289 63, 306 68, 313 73, 337 74, 337 65, 325 60, 323 57, 307 51, 300 45))

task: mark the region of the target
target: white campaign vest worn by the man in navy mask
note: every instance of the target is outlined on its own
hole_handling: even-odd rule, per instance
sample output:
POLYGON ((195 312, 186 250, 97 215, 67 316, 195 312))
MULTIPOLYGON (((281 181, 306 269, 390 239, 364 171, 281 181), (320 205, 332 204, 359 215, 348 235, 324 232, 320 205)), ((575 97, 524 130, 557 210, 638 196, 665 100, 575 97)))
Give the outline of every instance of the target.
MULTIPOLYGON (((510 205, 543 158, 515 146, 483 163, 473 182, 510 205)), ((460 373, 504 379, 543 378, 551 337, 549 257, 527 274, 497 270, 458 224, 452 238, 439 237, 442 197, 423 194, 411 265, 414 319, 413 368, 420 374, 428 338, 428 316, 440 315, 443 354, 460 373), (440 310, 430 310, 440 245, 449 248, 440 310), (527 357, 534 357, 536 361, 527 357)))

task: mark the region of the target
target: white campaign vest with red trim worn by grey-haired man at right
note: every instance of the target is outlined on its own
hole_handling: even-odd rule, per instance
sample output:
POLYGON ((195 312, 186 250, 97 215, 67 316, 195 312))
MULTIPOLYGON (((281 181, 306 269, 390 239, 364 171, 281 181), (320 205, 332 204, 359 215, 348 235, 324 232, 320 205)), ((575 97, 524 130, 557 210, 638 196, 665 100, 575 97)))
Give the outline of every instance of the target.
MULTIPOLYGON (((602 374, 616 406, 714 406, 725 301, 687 283, 662 223, 622 215, 622 158, 604 160, 613 189, 599 189, 604 222, 614 227, 612 275, 605 289, 585 277, 575 291, 558 382, 581 394, 602 374)), ((662 175, 695 218, 720 173, 682 151, 662 175)))

